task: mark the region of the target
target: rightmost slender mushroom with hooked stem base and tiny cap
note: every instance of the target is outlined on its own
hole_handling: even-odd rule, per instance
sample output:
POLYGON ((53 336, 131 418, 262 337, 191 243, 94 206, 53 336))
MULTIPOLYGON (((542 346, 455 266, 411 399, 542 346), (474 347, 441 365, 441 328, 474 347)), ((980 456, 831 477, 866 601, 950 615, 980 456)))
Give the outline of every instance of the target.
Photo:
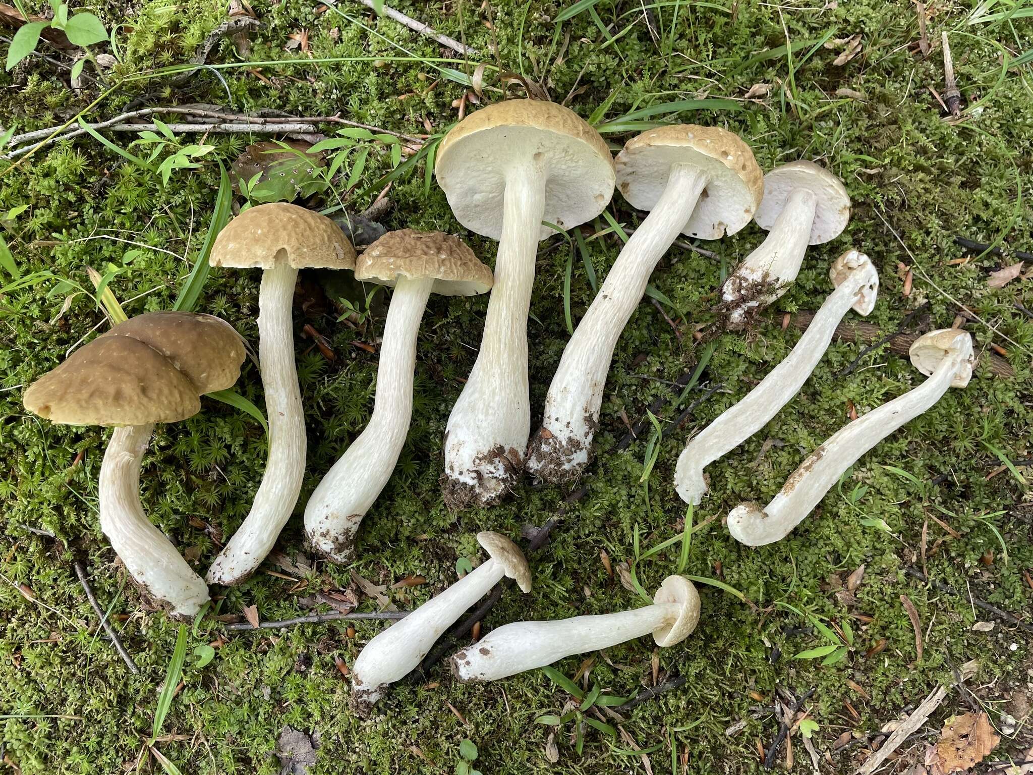
POLYGON ((759 547, 784 538, 862 455, 928 410, 948 388, 964 388, 972 377, 972 337, 959 329, 919 337, 910 355, 912 365, 929 379, 833 434, 792 472, 766 508, 741 503, 731 509, 728 531, 735 540, 759 547))

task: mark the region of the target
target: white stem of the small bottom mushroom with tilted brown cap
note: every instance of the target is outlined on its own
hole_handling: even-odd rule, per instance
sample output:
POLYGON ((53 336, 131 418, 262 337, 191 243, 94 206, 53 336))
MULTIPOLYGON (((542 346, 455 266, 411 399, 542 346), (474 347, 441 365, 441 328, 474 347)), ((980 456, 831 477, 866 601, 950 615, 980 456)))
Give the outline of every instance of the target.
POLYGON ((356 694, 369 703, 379 700, 384 687, 419 664, 452 622, 502 581, 502 575, 501 563, 487 560, 366 644, 351 668, 356 694))

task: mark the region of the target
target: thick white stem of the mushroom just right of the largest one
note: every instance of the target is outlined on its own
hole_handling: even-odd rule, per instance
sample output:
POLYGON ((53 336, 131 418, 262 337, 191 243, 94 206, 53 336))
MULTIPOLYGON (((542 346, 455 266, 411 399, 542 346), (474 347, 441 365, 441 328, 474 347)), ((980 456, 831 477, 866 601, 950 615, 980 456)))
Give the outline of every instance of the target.
POLYGON ((527 467, 546 482, 575 478, 588 465, 614 347, 641 301, 657 261, 678 238, 710 177, 676 164, 667 186, 621 250, 563 350, 527 467))

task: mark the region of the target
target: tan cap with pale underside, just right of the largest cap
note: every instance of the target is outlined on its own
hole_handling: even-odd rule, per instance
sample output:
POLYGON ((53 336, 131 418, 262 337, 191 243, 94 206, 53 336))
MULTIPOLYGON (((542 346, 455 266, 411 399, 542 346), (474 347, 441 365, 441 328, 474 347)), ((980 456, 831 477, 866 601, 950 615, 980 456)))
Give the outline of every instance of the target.
POLYGON ((682 234, 717 240, 752 220, 764 194, 763 173, 742 137, 718 126, 661 126, 629 140, 617 155, 621 195, 637 210, 652 210, 675 164, 711 176, 682 234))

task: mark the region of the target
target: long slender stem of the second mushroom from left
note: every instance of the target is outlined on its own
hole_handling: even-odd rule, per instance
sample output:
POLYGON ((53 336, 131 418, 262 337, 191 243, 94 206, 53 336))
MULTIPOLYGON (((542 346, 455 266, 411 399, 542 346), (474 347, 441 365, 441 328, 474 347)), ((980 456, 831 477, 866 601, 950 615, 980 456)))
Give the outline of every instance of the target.
POLYGON ((290 519, 302 490, 305 414, 290 319, 296 279, 298 270, 284 260, 262 272, 258 359, 269 415, 269 459, 251 512, 209 568, 209 584, 241 584, 258 569, 290 519))

